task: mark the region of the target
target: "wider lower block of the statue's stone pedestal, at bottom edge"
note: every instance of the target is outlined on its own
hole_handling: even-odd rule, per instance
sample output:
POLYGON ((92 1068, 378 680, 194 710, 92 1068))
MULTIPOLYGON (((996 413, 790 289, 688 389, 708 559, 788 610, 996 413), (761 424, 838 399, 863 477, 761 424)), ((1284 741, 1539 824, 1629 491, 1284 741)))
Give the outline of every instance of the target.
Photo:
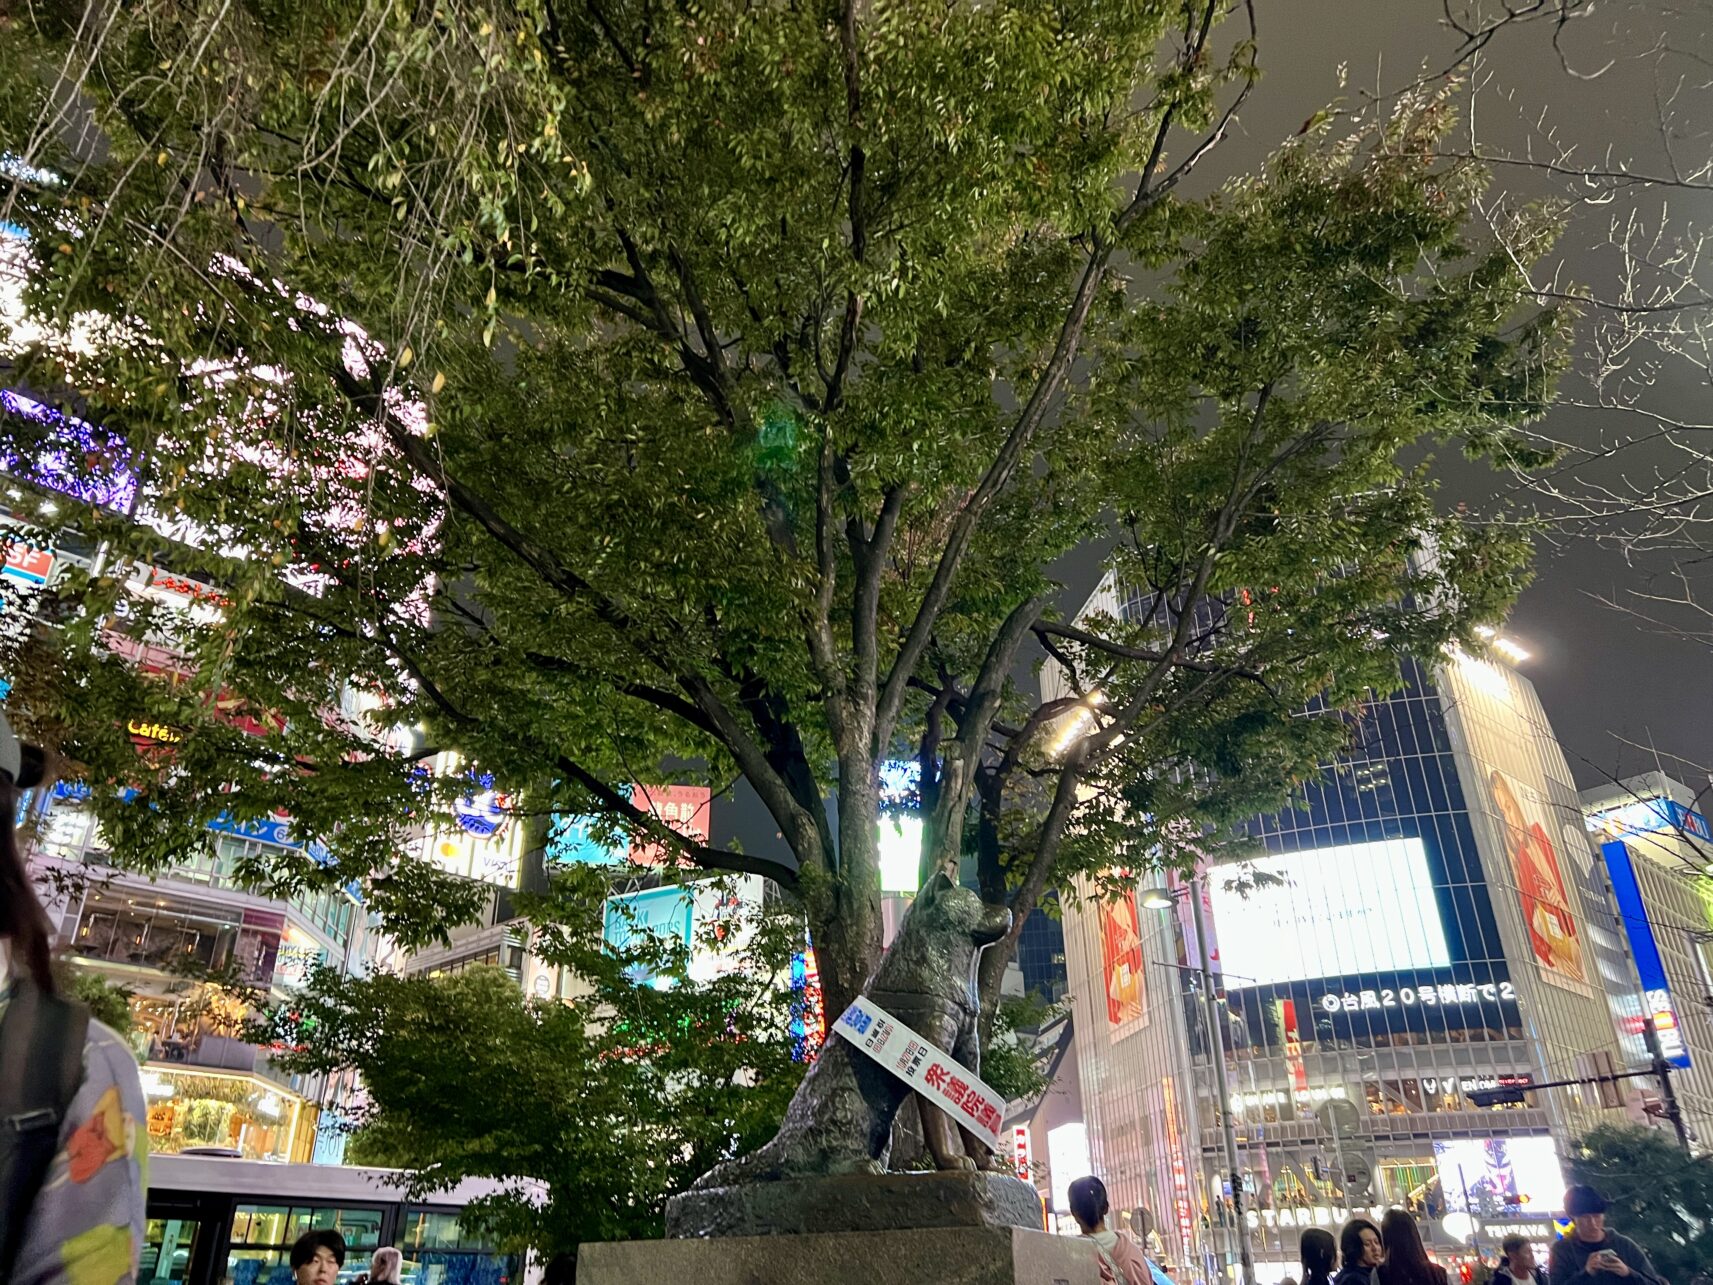
POLYGON ((577 1249, 577 1285, 1098 1285, 1088 1240, 1021 1227, 622 1240, 577 1249))

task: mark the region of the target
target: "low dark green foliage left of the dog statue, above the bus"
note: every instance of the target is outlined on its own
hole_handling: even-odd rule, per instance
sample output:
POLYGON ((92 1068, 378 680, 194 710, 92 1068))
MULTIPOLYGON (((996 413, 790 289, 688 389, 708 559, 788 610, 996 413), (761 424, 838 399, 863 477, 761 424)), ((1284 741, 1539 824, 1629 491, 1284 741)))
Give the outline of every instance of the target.
POLYGON ((510 1182, 475 1208, 504 1244, 557 1252, 660 1237, 666 1198, 766 1141, 802 1078, 785 985, 802 920, 764 915, 743 932, 713 980, 690 978, 682 947, 646 935, 613 953, 598 927, 550 932, 536 949, 582 978, 564 1002, 528 997, 492 966, 367 978, 319 968, 252 1038, 286 1050, 274 1061, 291 1071, 358 1071, 365 1156, 413 1170, 420 1189, 545 1184, 545 1201, 510 1182))

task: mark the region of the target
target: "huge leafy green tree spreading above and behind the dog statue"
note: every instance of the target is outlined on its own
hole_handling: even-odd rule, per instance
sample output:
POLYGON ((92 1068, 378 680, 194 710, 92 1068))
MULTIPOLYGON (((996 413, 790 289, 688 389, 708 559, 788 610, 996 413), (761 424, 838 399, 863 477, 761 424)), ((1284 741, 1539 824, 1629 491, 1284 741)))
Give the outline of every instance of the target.
POLYGON ((283 807, 325 855, 247 874, 360 879, 432 935, 456 888, 401 836, 451 749, 798 894, 836 1011, 880 947, 879 773, 913 757, 925 865, 973 853, 1018 910, 992 994, 1048 889, 1278 805, 1343 735, 1293 711, 1480 646, 1521 583, 1523 541, 1406 459, 1533 459, 1549 221, 1477 230, 1434 87, 1213 183, 1252 5, 5 24, 21 377, 101 430, 0 447, 147 497, 75 514, 106 543, 24 701, 123 862, 283 807), (1095 540, 1137 610, 1077 629, 1048 569, 1095 540), (127 559, 221 586, 171 622, 182 665, 115 619, 127 559), (1014 684, 1036 644, 1072 675, 1048 702, 1014 684), (632 805, 666 762, 747 781, 781 852, 632 805))

